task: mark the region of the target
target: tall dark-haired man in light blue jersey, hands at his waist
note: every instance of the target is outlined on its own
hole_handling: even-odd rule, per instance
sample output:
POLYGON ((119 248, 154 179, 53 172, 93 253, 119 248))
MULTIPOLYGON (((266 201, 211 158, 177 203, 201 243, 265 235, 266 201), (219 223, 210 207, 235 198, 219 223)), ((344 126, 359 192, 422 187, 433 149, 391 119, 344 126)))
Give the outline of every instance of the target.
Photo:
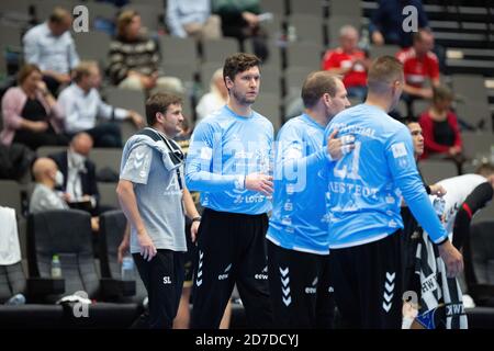
POLYGON ((259 59, 226 58, 225 106, 201 121, 186 168, 204 207, 198 239, 192 328, 217 328, 234 284, 252 328, 271 327, 266 259, 272 124, 250 105, 259 93, 259 59))

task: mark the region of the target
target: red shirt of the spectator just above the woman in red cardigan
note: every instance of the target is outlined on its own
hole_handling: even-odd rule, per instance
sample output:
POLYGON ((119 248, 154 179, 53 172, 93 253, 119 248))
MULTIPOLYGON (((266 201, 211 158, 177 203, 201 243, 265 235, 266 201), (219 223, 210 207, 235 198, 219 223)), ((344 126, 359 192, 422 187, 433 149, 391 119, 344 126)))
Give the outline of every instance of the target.
POLYGON ((403 64, 405 82, 415 88, 422 88, 426 78, 439 79, 439 60, 436 54, 428 52, 417 57, 413 47, 396 53, 396 58, 403 64))

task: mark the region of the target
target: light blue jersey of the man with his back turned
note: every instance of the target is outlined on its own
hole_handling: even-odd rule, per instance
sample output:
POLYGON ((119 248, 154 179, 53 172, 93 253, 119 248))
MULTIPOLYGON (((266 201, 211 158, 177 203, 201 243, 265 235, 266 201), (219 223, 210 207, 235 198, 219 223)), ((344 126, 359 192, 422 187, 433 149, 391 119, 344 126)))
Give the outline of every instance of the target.
POLYGON ((418 174, 408 128, 383 110, 360 104, 337 114, 325 132, 353 135, 355 149, 328 163, 329 247, 375 241, 403 228, 400 192, 435 242, 447 238, 418 174))

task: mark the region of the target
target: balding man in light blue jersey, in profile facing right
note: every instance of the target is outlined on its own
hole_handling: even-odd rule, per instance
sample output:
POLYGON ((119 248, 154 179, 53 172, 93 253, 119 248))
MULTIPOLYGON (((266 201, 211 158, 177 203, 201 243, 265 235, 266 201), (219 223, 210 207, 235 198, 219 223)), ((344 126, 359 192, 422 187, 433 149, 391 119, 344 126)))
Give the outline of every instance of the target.
POLYGON ((340 157, 343 147, 336 131, 325 148, 323 137, 330 118, 350 103, 341 80, 328 71, 308 75, 301 95, 305 112, 287 122, 277 139, 266 236, 269 288, 277 328, 330 328, 335 305, 323 171, 326 158, 340 157))

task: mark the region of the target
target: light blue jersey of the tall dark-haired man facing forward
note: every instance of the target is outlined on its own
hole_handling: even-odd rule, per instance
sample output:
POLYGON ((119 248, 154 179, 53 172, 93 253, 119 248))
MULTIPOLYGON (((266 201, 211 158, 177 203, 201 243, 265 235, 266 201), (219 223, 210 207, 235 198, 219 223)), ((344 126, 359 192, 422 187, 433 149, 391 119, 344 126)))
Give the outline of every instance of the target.
POLYGON ((252 111, 237 115, 226 105, 201 121, 192 134, 186 182, 201 192, 204 207, 257 215, 271 210, 261 193, 245 189, 245 177, 268 174, 271 168, 273 127, 252 111))

